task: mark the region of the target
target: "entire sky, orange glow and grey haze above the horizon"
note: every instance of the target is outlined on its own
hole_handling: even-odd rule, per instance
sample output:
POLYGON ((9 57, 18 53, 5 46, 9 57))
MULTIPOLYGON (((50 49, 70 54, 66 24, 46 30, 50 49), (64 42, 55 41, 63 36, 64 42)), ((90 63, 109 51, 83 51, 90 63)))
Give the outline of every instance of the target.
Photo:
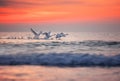
POLYGON ((120 0, 0 0, 0 31, 120 30, 119 22, 120 0))

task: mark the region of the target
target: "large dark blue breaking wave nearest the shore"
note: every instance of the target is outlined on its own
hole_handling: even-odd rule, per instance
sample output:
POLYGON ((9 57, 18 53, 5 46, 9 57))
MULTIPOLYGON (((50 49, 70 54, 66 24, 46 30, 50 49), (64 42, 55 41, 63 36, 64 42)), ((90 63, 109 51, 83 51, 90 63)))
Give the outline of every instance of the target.
POLYGON ((63 67, 120 66, 120 55, 50 53, 0 55, 0 65, 44 65, 63 67))

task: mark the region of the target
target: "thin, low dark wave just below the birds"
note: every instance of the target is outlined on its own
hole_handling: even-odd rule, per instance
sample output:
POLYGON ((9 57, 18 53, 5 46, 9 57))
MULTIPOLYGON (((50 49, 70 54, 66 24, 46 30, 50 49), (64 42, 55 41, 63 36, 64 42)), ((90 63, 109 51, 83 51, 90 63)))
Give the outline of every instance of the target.
POLYGON ((17 44, 17 43, 0 43, 1 45, 29 45, 33 44, 35 46, 39 45, 45 45, 45 46, 60 46, 60 45, 82 45, 82 46, 120 46, 119 41, 102 41, 102 40, 86 40, 86 41, 50 41, 50 42, 29 42, 29 43, 23 43, 23 44, 17 44))

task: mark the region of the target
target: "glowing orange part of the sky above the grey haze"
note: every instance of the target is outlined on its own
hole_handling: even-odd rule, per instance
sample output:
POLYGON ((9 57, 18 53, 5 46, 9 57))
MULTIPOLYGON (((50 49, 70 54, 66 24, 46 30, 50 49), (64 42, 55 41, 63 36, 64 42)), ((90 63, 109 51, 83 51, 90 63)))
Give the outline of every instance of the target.
POLYGON ((0 22, 120 19, 120 0, 1 0, 0 22))

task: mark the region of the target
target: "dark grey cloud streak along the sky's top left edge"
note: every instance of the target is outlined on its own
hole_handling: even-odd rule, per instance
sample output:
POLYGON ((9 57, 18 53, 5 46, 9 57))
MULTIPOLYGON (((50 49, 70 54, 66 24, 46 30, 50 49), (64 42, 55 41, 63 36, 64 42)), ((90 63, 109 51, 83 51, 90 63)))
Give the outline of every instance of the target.
POLYGON ((67 5, 67 4, 82 4, 83 2, 81 1, 76 1, 76 0, 61 0, 61 1, 39 1, 35 0, 33 2, 31 1, 17 1, 17 0, 0 0, 0 7, 33 7, 33 6, 43 6, 43 5, 67 5))

